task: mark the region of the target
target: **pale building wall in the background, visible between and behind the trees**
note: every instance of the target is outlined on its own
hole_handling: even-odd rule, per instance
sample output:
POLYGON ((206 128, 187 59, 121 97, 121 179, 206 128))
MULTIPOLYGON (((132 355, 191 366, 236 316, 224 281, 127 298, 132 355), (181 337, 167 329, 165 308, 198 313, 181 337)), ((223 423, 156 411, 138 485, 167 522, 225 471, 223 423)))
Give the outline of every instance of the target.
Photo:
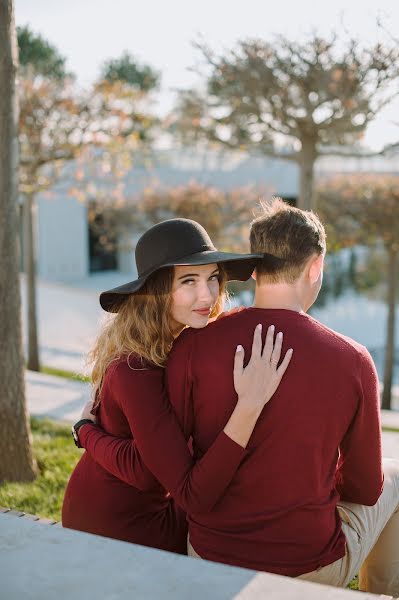
MULTIPOLYGON (((137 197, 154 180, 161 187, 173 187, 195 179, 221 189, 248 184, 270 186, 271 192, 283 197, 297 196, 298 168, 283 160, 248 157, 246 155, 199 157, 184 151, 166 152, 153 170, 133 169, 126 178, 126 193, 137 197), (184 156, 186 158, 184 160, 184 156)), ((70 168, 72 168, 70 166, 70 168)), ((350 172, 399 172, 399 155, 381 157, 322 157, 316 174, 350 172)), ((71 181, 73 177, 71 175, 71 181)), ((99 182, 101 185, 101 182, 99 182)), ((61 186, 60 186, 61 187, 61 186)), ((40 196, 37 202, 37 268, 41 278, 71 282, 90 274, 89 232, 84 203, 55 188, 51 197, 40 196)), ((136 276, 134 248, 139 234, 125 234, 119 240, 118 270, 136 276)))

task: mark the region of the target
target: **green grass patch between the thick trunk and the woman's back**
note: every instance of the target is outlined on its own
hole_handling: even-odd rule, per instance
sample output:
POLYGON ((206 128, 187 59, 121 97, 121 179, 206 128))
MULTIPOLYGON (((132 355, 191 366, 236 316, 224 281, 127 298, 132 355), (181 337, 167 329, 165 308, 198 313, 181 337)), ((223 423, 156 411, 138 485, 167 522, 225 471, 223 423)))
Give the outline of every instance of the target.
POLYGON ((39 474, 30 483, 0 485, 0 506, 61 520, 65 486, 80 458, 68 425, 31 419, 33 450, 39 474))

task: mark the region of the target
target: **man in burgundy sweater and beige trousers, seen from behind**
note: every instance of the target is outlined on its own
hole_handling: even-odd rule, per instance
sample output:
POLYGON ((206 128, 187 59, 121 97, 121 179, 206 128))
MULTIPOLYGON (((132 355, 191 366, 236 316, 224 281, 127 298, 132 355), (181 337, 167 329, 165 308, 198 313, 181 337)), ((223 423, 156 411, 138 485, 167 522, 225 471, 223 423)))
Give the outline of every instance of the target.
POLYGON ((322 284, 324 228, 275 200, 250 240, 267 253, 254 306, 183 332, 168 362, 168 395, 197 458, 236 403, 237 341, 249 356, 254 327, 275 325, 294 355, 225 496, 188 515, 189 554, 337 586, 363 564, 362 590, 399 596, 399 463, 383 472, 377 374, 363 346, 306 314, 322 284))

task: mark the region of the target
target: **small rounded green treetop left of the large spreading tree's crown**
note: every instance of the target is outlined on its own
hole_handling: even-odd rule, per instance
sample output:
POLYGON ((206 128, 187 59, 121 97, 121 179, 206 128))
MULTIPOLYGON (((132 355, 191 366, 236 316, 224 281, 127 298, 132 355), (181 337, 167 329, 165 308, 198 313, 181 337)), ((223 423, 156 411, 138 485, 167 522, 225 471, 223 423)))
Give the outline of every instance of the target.
POLYGON ((124 52, 120 58, 105 62, 101 79, 123 81, 147 93, 159 86, 160 75, 149 65, 140 65, 131 54, 124 52))

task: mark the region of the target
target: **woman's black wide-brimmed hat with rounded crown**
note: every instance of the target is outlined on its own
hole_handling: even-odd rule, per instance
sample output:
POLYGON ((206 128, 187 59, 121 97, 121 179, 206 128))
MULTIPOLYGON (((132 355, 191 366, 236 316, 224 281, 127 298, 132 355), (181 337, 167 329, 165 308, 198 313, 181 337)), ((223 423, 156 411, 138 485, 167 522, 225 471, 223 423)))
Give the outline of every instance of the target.
POLYGON ((137 293, 159 269, 176 265, 223 264, 228 281, 246 281, 262 254, 219 252, 205 229, 190 219, 169 219, 148 229, 139 239, 135 257, 138 278, 100 295, 108 312, 118 312, 121 302, 137 293))

